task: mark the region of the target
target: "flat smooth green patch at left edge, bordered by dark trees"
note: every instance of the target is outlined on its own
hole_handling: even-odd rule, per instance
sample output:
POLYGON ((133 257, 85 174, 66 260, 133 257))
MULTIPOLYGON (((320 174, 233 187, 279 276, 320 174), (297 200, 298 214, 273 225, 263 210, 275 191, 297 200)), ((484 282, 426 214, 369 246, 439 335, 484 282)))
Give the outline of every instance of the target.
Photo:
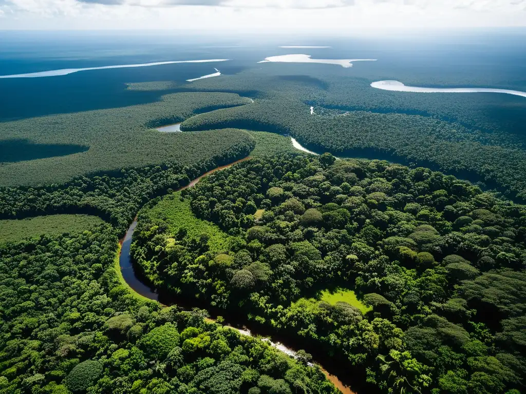
POLYGON ((89 215, 50 215, 31 219, 0 220, 0 243, 16 242, 41 234, 83 232, 102 224, 103 220, 89 215))

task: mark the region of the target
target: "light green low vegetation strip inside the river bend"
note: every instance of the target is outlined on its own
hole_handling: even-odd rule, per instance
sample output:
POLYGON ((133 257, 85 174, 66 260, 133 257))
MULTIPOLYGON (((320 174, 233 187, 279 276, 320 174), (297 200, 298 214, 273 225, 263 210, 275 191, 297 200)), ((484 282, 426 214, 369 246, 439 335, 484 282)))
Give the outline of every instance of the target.
POLYGON ((148 215, 151 218, 164 220, 168 224, 170 233, 175 233, 182 227, 190 236, 207 234, 210 237, 208 245, 211 251, 221 252, 228 248, 227 242, 230 236, 219 229, 217 225, 195 217, 190 209, 190 200, 181 201, 180 192, 166 196, 148 211, 148 215))

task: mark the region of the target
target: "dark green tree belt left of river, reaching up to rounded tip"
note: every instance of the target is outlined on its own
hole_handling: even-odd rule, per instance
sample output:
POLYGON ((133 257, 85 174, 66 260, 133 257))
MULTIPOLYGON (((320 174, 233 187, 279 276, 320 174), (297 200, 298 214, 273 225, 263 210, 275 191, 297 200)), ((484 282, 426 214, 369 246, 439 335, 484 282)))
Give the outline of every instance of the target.
POLYGON ((181 152, 200 149, 194 151, 193 161, 187 165, 164 162, 34 188, 0 186, 0 217, 82 212, 102 217, 124 234, 140 206, 150 199, 177 190, 219 165, 245 158, 255 147, 254 139, 240 130, 198 134, 193 146, 179 148, 181 152))

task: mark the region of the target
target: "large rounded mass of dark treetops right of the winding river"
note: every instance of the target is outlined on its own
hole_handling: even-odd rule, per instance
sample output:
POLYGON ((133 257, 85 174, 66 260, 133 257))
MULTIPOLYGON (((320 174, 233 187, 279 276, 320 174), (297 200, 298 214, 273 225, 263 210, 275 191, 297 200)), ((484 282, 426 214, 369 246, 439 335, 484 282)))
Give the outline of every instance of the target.
POLYGON ((330 154, 252 159, 183 196, 139 214, 132 253, 161 292, 301 341, 365 392, 524 389, 526 206, 330 154), (338 288, 372 310, 320 300, 338 288))

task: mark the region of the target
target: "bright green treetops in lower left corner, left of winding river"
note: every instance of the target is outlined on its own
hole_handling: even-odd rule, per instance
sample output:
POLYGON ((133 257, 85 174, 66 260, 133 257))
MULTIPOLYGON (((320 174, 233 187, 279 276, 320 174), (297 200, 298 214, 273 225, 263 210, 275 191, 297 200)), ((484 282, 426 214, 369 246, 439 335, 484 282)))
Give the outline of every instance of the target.
POLYGON ((0 246, 0 393, 337 394, 306 354, 130 294, 117 245, 105 224, 0 246))

